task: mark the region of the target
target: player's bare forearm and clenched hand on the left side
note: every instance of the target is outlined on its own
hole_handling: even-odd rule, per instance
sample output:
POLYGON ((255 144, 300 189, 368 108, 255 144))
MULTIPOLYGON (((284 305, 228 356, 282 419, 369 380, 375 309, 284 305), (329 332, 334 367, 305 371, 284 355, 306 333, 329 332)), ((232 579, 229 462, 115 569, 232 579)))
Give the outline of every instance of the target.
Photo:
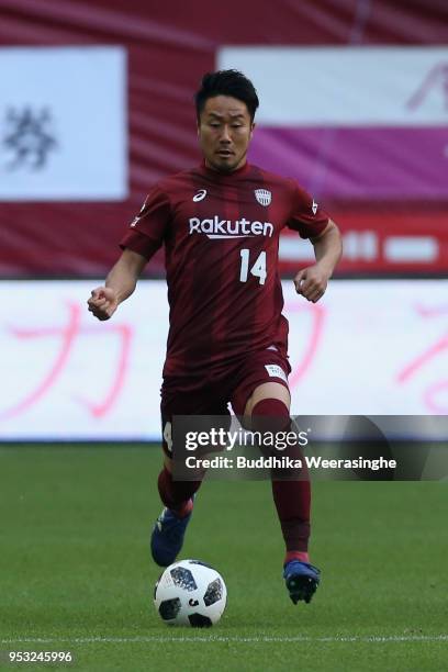
POLYGON ((89 311, 98 320, 112 317, 120 303, 131 296, 135 290, 146 262, 147 259, 142 255, 132 249, 125 249, 108 275, 104 287, 97 287, 92 290, 87 302, 89 311))

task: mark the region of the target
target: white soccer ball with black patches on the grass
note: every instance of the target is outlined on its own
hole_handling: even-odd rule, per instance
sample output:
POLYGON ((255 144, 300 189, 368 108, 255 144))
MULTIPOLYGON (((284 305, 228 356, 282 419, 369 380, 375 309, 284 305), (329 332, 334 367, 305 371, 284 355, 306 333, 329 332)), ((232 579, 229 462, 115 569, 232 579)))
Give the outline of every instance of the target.
POLYGON ((154 604, 168 625, 210 627, 220 620, 226 601, 223 578, 200 560, 173 562, 154 587, 154 604))

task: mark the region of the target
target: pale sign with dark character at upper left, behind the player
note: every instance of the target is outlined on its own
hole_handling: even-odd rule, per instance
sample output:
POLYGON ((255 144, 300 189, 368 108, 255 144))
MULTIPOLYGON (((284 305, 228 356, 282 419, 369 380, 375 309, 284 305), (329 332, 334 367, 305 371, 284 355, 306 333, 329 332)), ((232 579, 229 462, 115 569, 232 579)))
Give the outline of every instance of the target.
POLYGON ((0 48, 0 201, 128 192, 126 52, 0 48))

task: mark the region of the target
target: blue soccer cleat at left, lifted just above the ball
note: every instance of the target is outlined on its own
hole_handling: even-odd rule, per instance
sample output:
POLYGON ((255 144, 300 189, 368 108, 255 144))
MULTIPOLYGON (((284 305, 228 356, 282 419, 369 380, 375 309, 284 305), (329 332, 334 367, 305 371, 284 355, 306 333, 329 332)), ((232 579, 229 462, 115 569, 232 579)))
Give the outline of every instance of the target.
POLYGON ((164 508, 150 535, 150 552, 154 562, 160 567, 168 567, 175 562, 182 548, 187 525, 192 513, 191 511, 183 518, 179 518, 171 509, 164 508))

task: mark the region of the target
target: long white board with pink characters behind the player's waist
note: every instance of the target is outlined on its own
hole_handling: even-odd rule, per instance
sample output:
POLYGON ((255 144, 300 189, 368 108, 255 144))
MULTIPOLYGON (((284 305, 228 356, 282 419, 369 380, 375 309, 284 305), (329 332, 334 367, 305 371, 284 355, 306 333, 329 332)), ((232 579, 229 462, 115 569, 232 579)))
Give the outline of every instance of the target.
MULTIPOLYGON (((165 282, 141 281, 102 323, 86 305, 97 284, 0 283, 0 439, 159 439, 165 282)), ((447 414, 447 290, 333 281, 313 305, 284 282, 292 412, 447 414)))

